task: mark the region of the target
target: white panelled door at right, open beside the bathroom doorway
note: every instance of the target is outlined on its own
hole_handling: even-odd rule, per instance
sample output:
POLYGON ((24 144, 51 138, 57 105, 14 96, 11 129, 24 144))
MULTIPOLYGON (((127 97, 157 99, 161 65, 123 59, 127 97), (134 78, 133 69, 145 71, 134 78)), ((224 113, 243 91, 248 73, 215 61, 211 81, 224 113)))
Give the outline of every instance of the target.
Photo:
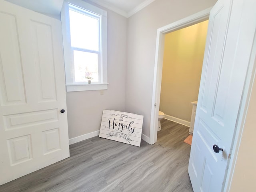
POLYGON ((188 166, 195 192, 223 190, 240 102, 246 94, 255 7, 252 0, 218 0, 210 12, 188 166), (214 152, 215 144, 223 151, 214 152))

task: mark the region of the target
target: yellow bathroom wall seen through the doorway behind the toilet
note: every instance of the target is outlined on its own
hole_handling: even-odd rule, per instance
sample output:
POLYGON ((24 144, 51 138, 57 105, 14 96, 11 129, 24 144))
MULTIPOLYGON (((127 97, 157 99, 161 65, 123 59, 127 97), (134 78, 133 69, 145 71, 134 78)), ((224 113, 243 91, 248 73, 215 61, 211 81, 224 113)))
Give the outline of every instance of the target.
POLYGON ((198 98, 208 20, 165 35, 160 111, 190 122, 198 98))

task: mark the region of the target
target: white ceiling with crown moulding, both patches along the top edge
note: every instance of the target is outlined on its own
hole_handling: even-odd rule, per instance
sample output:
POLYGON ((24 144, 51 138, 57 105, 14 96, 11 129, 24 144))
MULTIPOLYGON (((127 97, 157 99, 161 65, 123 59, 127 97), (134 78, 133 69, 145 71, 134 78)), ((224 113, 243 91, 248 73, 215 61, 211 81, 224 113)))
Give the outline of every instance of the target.
MULTIPOLYGON (((59 15, 63 0, 6 0, 22 7, 50 15, 59 15)), ((130 17, 155 0, 90 0, 122 16, 130 17)))

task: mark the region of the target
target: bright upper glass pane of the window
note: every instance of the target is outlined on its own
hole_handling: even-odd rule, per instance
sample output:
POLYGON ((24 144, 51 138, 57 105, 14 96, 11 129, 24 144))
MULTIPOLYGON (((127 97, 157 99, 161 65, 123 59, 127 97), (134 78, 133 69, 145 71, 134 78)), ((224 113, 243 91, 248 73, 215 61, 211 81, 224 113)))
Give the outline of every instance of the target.
POLYGON ((99 50, 98 19, 69 10, 71 46, 99 50))

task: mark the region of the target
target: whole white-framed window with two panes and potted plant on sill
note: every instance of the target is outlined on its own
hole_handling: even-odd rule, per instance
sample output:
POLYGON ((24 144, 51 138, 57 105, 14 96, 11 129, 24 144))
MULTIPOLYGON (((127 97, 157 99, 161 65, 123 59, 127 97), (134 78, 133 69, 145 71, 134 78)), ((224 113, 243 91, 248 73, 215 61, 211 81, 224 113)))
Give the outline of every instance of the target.
POLYGON ((61 11, 67 91, 107 89, 106 11, 81 0, 61 11))

